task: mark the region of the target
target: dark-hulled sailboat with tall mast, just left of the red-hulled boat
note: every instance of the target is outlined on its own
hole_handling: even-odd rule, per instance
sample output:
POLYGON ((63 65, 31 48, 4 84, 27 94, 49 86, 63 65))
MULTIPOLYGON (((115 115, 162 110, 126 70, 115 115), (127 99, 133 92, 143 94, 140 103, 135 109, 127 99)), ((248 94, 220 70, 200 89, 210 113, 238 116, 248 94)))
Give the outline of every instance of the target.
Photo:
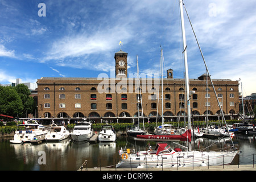
POLYGON ((144 130, 144 121, 143 121, 143 130, 140 129, 139 126, 139 118, 140 118, 140 112, 139 112, 139 107, 141 104, 141 108, 142 108, 142 121, 143 121, 143 107, 142 107, 142 97, 141 97, 141 86, 139 84, 139 63, 138 63, 138 55, 137 55, 137 108, 138 108, 138 125, 132 125, 132 126, 128 126, 126 129, 127 135, 129 137, 136 137, 137 135, 142 135, 144 133, 146 133, 144 130), (140 103, 141 102, 141 103, 140 103))

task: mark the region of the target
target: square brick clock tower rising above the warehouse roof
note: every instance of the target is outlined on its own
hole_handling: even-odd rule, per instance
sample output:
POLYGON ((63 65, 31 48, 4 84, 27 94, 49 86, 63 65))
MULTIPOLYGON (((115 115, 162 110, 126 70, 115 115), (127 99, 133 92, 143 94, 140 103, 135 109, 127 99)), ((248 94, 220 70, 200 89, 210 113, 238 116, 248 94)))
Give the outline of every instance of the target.
POLYGON ((115 77, 127 78, 127 55, 122 49, 115 53, 115 77))

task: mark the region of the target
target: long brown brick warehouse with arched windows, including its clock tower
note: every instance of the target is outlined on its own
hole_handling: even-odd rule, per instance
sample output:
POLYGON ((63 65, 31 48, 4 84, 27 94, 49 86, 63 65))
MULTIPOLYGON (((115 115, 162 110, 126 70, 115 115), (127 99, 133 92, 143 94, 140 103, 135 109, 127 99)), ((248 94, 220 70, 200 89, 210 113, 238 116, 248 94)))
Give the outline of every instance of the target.
MULTIPOLYGON (((156 115, 162 113, 162 100, 158 100, 162 98, 160 80, 140 78, 137 89, 137 78, 127 78, 127 53, 118 51, 114 60, 115 78, 38 79, 38 117, 49 120, 61 118, 69 122, 78 119, 133 122, 139 110, 144 121, 155 121, 156 115)), ((167 75, 163 79, 164 120, 177 121, 179 115, 185 113, 184 79, 174 78, 172 69, 168 69, 167 75)), ((206 75, 189 79, 190 89, 195 90, 191 96, 191 109, 196 120, 205 119, 207 108, 210 119, 218 119, 220 115, 212 85, 208 82, 207 92, 206 84, 206 75)), ((216 79, 213 84, 226 119, 236 118, 239 111, 238 81, 216 79)))

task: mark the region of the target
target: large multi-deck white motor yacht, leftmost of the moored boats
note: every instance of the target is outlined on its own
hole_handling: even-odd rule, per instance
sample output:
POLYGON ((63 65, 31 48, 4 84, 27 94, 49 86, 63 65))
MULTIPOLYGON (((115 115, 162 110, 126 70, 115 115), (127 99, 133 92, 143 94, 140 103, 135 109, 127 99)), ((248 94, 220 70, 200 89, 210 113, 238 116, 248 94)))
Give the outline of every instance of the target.
POLYGON ((21 125, 17 125, 18 129, 15 131, 14 139, 11 143, 26 143, 32 140, 45 139, 48 130, 43 125, 39 125, 36 121, 25 121, 21 125))

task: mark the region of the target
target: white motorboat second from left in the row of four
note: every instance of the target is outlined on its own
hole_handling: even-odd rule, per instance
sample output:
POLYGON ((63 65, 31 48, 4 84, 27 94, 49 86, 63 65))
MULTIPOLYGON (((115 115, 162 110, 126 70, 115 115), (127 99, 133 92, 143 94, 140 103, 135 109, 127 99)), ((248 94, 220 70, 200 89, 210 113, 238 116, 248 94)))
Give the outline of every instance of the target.
POLYGON ((61 123, 62 122, 60 122, 59 125, 52 123, 49 126, 49 131, 46 135, 47 141, 60 141, 69 137, 69 131, 61 123))

